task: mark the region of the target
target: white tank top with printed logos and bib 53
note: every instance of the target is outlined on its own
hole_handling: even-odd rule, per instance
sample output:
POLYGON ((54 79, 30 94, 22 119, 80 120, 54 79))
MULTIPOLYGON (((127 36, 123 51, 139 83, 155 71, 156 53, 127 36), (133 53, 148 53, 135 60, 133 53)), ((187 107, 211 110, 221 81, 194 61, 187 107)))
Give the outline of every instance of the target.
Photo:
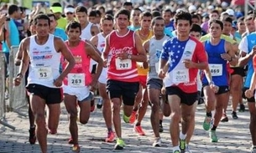
POLYGON ((39 45, 35 35, 30 37, 28 84, 58 88, 53 83, 60 76, 60 53, 55 50, 54 39, 55 36, 49 34, 47 42, 39 45))

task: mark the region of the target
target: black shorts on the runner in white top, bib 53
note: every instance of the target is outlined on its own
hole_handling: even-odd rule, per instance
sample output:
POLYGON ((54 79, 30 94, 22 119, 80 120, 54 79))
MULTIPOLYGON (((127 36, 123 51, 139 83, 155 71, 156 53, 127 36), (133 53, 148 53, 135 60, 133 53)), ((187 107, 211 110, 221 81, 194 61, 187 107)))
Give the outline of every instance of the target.
POLYGON ((29 84, 27 87, 28 93, 39 96, 45 100, 47 105, 60 104, 63 99, 62 88, 49 88, 39 84, 29 84))

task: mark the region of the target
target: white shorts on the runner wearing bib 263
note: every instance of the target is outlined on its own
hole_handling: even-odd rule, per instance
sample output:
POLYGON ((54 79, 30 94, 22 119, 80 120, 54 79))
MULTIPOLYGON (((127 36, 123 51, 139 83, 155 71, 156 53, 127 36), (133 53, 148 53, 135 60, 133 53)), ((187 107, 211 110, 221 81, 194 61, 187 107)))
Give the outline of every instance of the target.
MULTIPOLYGON (((90 98, 90 89, 87 86, 74 88, 71 86, 63 85, 63 93, 75 95, 78 101, 83 101, 83 100, 86 100, 86 98, 90 98)), ((88 100, 91 100, 91 99, 88 99, 88 100)))

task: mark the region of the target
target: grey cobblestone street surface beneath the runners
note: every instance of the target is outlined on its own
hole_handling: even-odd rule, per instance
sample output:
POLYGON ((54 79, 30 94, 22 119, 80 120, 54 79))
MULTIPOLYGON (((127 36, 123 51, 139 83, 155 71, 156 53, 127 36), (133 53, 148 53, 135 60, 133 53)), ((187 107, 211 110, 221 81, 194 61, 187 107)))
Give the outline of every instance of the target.
MULTIPOLYGON (((20 110, 26 114, 27 108, 20 110)), ((204 119, 204 106, 198 105, 196 111, 196 129, 191 140, 191 150, 196 153, 245 153, 249 152, 251 147, 251 137, 249 135, 249 113, 248 110, 238 113, 238 120, 231 118, 231 110, 228 110, 229 121, 220 123, 217 128, 219 142, 212 143, 209 141, 208 132, 202 129, 202 121, 204 119)), ((170 119, 165 118, 163 121, 164 132, 161 134, 162 147, 154 148, 153 131, 150 125, 150 108, 144 117, 142 126, 146 133, 145 136, 138 136, 133 132, 133 125, 125 124, 122 120, 123 139, 126 142, 124 150, 112 150, 114 143, 104 142, 107 136, 107 129, 102 118, 102 110, 95 110, 91 113, 91 118, 87 125, 79 125, 79 142, 81 152, 171 152, 169 123, 170 119)), ((29 144, 29 119, 9 112, 6 114, 8 124, 16 127, 11 130, 8 127, 0 125, 0 152, 1 153, 37 153, 40 152, 38 142, 35 145, 29 144)), ((62 112, 60 116, 60 125, 56 135, 48 135, 49 152, 71 152, 71 145, 67 143, 70 138, 68 129, 68 120, 65 107, 62 104, 62 112)))

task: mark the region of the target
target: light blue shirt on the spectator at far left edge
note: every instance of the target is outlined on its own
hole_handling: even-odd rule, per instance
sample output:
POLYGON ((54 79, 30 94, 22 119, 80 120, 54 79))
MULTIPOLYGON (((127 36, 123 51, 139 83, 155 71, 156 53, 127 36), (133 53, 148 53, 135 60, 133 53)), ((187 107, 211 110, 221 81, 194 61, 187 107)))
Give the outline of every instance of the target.
MULTIPOLYGON (((10 19, 9 23, 8 23, 8 38, 10 39, 10 44, 12 46, 18 46, 19 45, 19 33, 18 33, 18 28, 13 20, 13 18, 10 19)), ((4 53, 9 53, 9 47, 8 44, 6 42, 3 42, 3 52, 4 53)))

